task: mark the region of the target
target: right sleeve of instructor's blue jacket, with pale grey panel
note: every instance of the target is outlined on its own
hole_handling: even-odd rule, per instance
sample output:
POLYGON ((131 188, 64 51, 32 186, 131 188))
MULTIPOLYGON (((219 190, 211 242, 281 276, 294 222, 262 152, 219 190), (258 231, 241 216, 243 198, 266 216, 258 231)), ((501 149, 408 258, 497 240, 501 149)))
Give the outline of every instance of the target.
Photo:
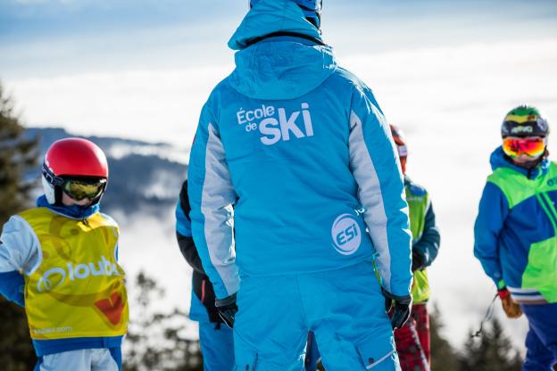
POLYGON ((377 251, 382 285, 396 296, 408 296, 412 233, 403 174, 390 128, 367 88, 354 92, 348 140, 350 167, 377 251))

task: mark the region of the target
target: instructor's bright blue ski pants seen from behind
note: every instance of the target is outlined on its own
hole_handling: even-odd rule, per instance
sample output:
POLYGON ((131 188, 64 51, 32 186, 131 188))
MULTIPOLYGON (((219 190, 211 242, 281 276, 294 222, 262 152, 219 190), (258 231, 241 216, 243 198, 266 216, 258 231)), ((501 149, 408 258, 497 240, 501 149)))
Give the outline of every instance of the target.
POLYGON ((237 370, 302 371, 308 331, 319 339, 328 370, 400 370, 371 261, 241 279, 234 326, 237 370))

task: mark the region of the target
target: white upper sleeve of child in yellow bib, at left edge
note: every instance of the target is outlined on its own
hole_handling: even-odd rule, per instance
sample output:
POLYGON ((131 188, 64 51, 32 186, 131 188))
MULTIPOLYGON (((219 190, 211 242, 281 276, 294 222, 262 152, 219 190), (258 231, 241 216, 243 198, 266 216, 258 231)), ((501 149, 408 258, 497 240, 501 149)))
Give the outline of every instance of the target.
POLYGON ((19 215, 10 218, 0 235, 0 272, 17 270, 29 275, 37 269, 42 254, 37 235, 19 215))

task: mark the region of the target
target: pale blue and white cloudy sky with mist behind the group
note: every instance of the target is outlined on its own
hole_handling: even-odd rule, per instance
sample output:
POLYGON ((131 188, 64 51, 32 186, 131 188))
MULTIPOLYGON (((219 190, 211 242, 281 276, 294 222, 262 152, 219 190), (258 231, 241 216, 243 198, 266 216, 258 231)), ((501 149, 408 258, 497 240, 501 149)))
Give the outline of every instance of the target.
MULTIPOLYGON (((0 80, 29 126, 187 152, 205 99, 234 68, 226 44, 246 3, 0 0, 0 80)), ((557 3, 325 0, 322 24, 340 64, 373 89, 407 136, 408 173, 428 188, 442 233, 429 268, 431 301, 460 345, 495 293, 472 256, 472 231, 504 114, 531 103, 550 127, 557 120, 557 3)), ((555 143, 550 137, 551 153, 555 143)), ((122 238, 142 251, 129 252, 132 270, 149 253, 180 269, 174 245, 142 246, 153 236, 173 243, 170 218, 159 231, 129 221, 134 234, 122 238)), ((165 263, 150 265, 181 302, 183 286, 160 273, 165 263)), ((524 318, 503 324, 521 346, 524 318)))

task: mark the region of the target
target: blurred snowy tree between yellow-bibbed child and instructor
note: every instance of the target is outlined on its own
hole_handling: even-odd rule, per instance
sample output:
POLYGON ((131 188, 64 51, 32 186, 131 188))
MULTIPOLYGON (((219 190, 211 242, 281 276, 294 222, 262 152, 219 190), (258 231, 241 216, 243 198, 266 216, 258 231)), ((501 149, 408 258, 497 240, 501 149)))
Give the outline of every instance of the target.
POLYGON ((199 342, 180 336, 187 314, 179 309, 168 314, 154 311, 152 304, 162 301, 164 292, 144 273, 137 275, 136 287, 137 316, 124 343, 124 371, 203 371, 199 342))

